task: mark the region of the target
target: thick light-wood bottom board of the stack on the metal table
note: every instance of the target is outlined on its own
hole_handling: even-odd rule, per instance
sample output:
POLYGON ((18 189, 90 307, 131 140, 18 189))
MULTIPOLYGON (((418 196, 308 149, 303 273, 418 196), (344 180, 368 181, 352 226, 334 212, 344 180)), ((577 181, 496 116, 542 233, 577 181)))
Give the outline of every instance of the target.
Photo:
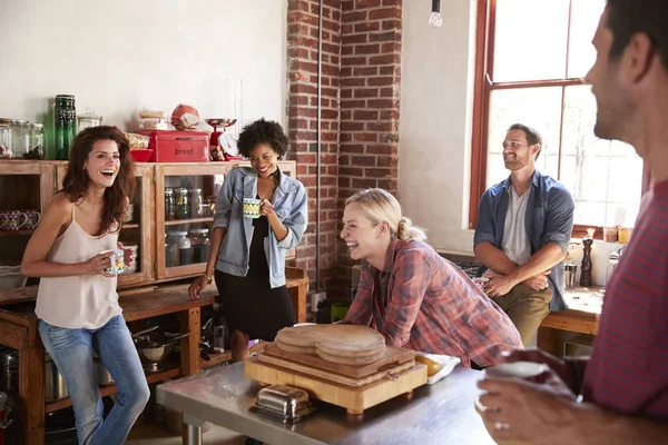
POLYGON ((289 385, 304 389, 317 399, 346 408, 348 414, 362 414, 364 409, 412 390, 426 383, 426 366, 415 364, 397 373, 394 379, 381 379, 369 385, 351 387, 263 363, 258 357, 244 362, 246 377, 266 385, 289 385))

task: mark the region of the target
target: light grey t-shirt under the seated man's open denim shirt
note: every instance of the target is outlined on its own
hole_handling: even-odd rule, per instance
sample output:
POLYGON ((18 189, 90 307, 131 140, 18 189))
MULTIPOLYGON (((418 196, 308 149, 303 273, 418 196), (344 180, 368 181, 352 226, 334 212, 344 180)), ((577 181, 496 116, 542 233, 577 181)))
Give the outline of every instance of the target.
POLYGON ((505 214, 505 222, 503 225, 503 241, 501 247, 503 253, 511 261, 518 266, 523 266, 531 258, 531 246, 529 244, 529 235, 527 234, 525 214, 527 201, 531 190, 527 190, 524 195, 518 196, 514 187, 508 187, 510 196, 508 200, 508 212, 505 214))

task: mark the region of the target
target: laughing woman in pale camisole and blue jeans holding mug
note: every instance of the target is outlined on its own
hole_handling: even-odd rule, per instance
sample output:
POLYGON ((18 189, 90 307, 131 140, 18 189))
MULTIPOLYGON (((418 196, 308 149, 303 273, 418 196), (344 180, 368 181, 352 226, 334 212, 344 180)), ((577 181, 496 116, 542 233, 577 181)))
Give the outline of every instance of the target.
MULTIPOLYGON (((116 293, 111 253, 135 189, 129 144, 116 127, 75 138, 62 190, 53 197, 23 254, 21 273, 40 277, 39 334, 65 377, 80 444, 120 445, 149 390, 116 293), (118 399, 102 422, 92 353, 116 380, 118 399)), ((129 263, 134 259, 129 258, 129 263)))

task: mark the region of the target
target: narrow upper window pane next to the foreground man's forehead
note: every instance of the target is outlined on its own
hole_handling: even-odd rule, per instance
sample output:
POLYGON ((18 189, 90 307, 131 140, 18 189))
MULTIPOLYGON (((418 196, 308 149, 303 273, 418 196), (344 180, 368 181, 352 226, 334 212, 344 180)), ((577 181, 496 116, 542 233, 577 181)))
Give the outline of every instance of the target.
POLYGON ((596 60, 591 40, 606 0, 573 0, 571 10, 568 77, 582 78, 596 60))

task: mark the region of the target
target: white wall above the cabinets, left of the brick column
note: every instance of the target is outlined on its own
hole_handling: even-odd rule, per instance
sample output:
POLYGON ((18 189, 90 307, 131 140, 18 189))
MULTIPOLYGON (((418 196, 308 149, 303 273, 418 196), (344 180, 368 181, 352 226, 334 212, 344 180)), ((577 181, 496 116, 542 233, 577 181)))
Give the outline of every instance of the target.
POLYGON ((40 121, 48 98, 75 95, 104 122, 143 107, 285 119, 287 1, 0 0, 0 117, 40 121), (218 87, 216 87, 218 85, 218 87))

